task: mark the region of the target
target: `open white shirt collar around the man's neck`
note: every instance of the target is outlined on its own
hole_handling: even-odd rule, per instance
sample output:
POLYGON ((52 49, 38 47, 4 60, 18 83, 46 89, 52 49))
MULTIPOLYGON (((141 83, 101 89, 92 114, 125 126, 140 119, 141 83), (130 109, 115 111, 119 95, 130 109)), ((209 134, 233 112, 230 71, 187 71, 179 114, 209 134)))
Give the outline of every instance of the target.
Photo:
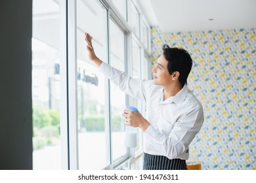
POLYGON ((188 93, 188 86, 186 84, 184 84, 183 88, 175 96, 169 97, 165 101, 163 101, 163 88, 161 88, 158 91, 161 93, 161 95, 160 95, 160 103, 161 104, 175 103, 175 104, 179 105, 179 103, 184 101, 184 99, 186 98, 186 95, 188 93))

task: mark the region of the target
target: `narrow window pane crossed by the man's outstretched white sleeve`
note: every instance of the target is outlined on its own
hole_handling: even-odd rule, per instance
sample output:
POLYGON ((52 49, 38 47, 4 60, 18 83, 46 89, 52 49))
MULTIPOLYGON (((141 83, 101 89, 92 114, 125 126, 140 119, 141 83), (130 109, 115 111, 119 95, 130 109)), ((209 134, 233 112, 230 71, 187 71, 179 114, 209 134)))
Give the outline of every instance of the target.
MULTIPOLYGON (((110 65, 125 71, 125 35, 112 20, 110 20, 110 65)), ((112 152, 113 159, 127 153, 124 141, 125 124, 121 116, 125 108, 125 93, 111 82, 111 116, 112 116, 112 152)))

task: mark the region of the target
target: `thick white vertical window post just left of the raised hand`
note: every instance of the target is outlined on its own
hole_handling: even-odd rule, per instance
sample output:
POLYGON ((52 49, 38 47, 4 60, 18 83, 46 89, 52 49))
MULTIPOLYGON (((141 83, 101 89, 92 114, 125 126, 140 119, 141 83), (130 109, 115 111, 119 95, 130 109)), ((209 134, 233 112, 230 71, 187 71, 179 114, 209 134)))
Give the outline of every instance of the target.
POLYGON ((77 133, 76 0, 68 2, 68 128, 70 169, 79 169, 77 133))

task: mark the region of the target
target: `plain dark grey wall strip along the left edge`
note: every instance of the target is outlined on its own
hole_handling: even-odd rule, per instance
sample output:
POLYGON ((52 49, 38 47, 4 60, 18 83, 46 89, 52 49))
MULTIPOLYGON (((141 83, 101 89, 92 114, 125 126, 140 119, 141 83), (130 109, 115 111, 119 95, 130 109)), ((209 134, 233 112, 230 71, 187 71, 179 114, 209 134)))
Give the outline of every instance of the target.
POLYGON ((0 169, 32 169, 32 0, 1 0, 0 22, 0 169))

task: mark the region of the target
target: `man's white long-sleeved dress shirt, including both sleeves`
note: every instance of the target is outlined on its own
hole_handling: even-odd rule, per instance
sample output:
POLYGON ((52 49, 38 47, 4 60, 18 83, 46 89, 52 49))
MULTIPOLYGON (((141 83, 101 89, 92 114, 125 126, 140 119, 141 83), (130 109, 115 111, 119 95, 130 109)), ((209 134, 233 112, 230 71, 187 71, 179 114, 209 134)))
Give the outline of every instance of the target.
POLYGON ((188 86, 185 84, 177 95, 163 101, 163 88, 153 80, 131 78, 104 62, 100 71, 121 91, 146 102, 145 118, 150 125, 144 131, 144 152, 188 159, 188 146, 203 124, 203 107, 188 86))

